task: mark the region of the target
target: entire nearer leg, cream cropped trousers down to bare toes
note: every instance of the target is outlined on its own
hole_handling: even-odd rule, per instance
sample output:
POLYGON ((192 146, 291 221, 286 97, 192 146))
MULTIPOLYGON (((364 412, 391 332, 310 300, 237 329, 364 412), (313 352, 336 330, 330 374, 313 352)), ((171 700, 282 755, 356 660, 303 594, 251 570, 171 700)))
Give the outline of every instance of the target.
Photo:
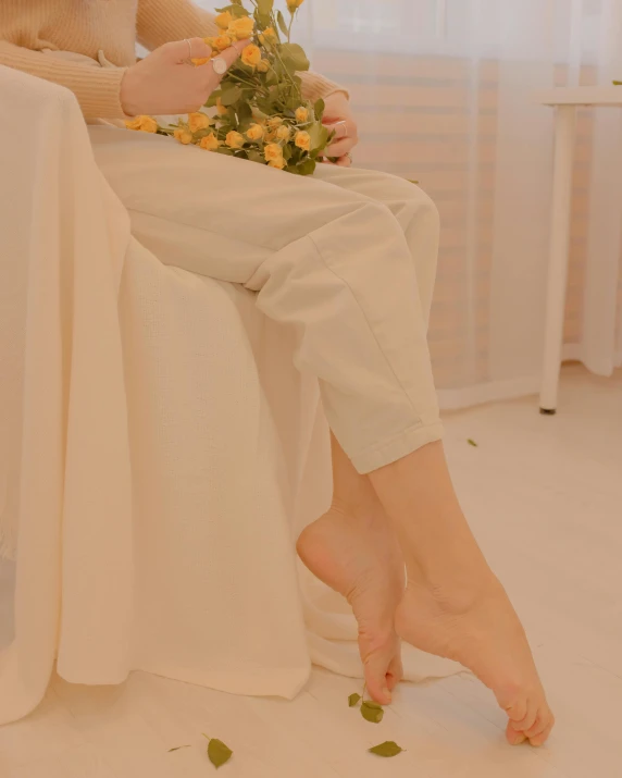
POLYGON ((319 378, 336 439, 360 473, 372 473, 400 536, 403 635, 471 666, 533 742, 545 738, 550 719, 520 625, 470 541, 440 447, 426 445, 441 427, 416 271, 396 217, 322 181, 164 138, 111 138, 97 159, 137 236, 163 261, 245 284, 296 332, 297 366, 319 378), (496 618, 486 621, 489 607, 496 618))

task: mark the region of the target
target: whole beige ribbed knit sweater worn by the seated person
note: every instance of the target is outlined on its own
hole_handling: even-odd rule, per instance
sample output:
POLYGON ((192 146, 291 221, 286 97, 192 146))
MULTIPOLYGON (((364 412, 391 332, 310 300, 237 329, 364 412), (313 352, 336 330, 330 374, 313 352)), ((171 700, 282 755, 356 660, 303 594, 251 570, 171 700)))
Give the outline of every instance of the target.
MULTIPOLYGON (((0 64, 66 86, 87 119, 120 119, 121 81, 136 62, 136 41, 154 49, 171 40, 215 35, 213 18, 191 0, 0 0, 0 64), (119 67, 46 57, 46 49, 94 60, 102 51, 119 67)), ((302 77, 309 99, 345 91, 314 73, 302 77)))

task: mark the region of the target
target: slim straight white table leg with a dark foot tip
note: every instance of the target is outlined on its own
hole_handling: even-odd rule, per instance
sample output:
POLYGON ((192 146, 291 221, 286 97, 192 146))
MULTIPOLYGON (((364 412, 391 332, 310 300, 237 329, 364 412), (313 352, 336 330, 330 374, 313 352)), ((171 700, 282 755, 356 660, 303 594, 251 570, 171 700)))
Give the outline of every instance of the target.
POLYGON ((575 128, 575 106, 558 107, 555 131, 555 174, 546 308, 545 357, 540 394, 540 412, 550 416, 557 412, 559 373, 563 346, 575 128))

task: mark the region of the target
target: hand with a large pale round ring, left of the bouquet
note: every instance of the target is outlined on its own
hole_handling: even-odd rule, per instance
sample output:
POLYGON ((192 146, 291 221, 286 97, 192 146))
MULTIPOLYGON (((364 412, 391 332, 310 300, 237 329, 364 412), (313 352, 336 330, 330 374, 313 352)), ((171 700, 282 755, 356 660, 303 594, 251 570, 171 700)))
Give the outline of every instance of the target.
MULTIPOLYGON (((231 67, 248 40, 225 49, 222 57, 231 67)), ((192 113, 204 106, 219 88, 222 75, 212 64, 196 67, 192 59, 211 57, 212 50, 202 38, 165 44, 132 67, 121 82, 121 104, 128 116, 192 113), (190 46, 188 46, 188 42, 190 46)))

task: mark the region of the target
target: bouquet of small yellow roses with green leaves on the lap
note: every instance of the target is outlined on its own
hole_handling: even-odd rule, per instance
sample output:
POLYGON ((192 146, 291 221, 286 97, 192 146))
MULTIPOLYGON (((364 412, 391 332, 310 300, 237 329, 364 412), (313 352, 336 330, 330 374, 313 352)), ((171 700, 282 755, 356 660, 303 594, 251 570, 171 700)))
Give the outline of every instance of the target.
MULTIPOLYGON (((236 40, 249 39, 240 59, 224 76, 206 108, 161 127, 151 116, 138 116, 128 128, 172 135, 207 151, 268 164, 297 175, 311 175, 332 139, 322 124, 324 101, 303 100, 298 73, 309 70, 304 50, 291 42, 291 27, 303 0, 287 0, 289 22, 274 0, 244 0, 216 9, 220 35, 206 38, 212 57, 236 40)), ((194 60, 203 66, 209 60, 194 60)))

